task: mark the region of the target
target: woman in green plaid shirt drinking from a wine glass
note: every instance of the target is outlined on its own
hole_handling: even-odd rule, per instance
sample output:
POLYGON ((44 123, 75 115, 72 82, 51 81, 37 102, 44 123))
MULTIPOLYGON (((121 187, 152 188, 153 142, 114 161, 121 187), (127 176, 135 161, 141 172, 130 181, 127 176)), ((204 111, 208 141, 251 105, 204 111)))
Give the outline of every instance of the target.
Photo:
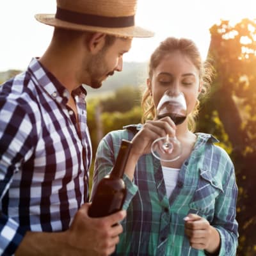
POLYGON ((211 75, 191 40, 167 38, 150 58, 144 124, 128 125, 100 141, 93 191, 111 172, 120 141, 133 143, 124 175, 127 218, 116 255, 236 255, 234 166, 211 134, 193 133, 198 97, 205 94, 211 75), (182 92, 186 99, 188 116, 176 127, 170 117, 156 118, 166 90, 182 92), (183 148, 172 162, 150 152, 152 142, 166 134, 176 136, 183 148))

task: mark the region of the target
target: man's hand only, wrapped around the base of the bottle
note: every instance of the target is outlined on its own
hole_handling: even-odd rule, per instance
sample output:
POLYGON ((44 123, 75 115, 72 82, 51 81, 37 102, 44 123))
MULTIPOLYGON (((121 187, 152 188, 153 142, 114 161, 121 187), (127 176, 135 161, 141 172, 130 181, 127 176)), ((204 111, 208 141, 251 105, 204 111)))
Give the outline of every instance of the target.
POLYGON ((83 251, 83 255, 110 255, 119 242, 118 235, 123 231, 119 222, 125 218, 126 212, 90 218, 88 207, 90 204, 84 204, 77 212, 70 230, 67 231, 68 244, 83 251))

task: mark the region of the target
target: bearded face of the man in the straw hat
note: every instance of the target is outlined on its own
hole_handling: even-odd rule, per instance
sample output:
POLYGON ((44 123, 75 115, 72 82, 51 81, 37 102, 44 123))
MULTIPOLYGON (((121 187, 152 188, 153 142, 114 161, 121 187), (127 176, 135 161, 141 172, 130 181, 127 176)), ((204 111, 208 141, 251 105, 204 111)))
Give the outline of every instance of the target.
POLYGON ((109 47, 104 47, 93 56, 87 67, 92 88, 100 88, 102 81, 112 76, 115 71, 122 71, 123 55, 131 49, 132 38, 116 38, 109 47))

